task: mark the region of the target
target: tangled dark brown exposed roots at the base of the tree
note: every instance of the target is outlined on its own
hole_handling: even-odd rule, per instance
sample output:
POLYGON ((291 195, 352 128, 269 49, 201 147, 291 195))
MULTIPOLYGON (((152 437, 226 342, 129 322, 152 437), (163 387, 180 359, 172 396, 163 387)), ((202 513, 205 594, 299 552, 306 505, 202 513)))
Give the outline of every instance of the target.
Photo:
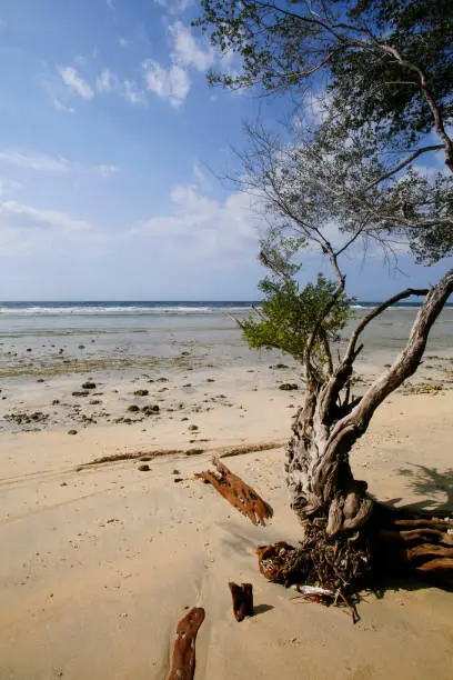
POLYGON ((298 583, 351 597, 390 573, 435 580, 453 586, 453 520, 410 518, 376 504, 372 520, 351 536, 330 537, 326 520, 304 524, 295 548, 280 542, 258 549, 260 571, 285 587, 298 583))

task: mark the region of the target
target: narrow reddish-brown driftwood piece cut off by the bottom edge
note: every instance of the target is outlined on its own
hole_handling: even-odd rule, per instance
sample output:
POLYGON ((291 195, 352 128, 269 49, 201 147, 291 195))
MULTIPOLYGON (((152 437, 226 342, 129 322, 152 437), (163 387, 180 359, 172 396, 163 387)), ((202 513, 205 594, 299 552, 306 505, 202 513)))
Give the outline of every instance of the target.
POLYGON ((195 639, 203 621, 204 609, 202 607, 194 607, 178 623, 173 659, 168 680, 192 680, 195 670, 195 639))

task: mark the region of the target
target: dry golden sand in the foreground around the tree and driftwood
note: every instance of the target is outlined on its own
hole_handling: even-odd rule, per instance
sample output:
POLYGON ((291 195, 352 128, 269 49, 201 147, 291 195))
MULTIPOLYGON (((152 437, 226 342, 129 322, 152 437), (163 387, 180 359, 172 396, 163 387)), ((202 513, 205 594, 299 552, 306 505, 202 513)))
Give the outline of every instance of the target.
MULTIPOLYGON (((381 599, 364 597, 352 626, 345 611, 292 600, 259 573, 258 544, 300 534, 282 448, 226 461, 274 508, 266 528, 191 478, 211 449, 286 439, 288 406, 300 396, 254 392, 252 379, 243 376, 240 397, 230 391, 235 408, 189 421, 1 434, 1 680, 163 679, 177 622, 194 606, 207 611, 199 679, 452 677, 452 593, 394 582, 381 599), (154 458, 148 472, 133 460, 76 469, 100 456, 194 447, 209 450, 154 458), (255 616, 242 623, 230 580, 253 583, 255 616)), ((354 451, 356 474, 382 500, 452 509, 452 391, 394 396, 354 451)))

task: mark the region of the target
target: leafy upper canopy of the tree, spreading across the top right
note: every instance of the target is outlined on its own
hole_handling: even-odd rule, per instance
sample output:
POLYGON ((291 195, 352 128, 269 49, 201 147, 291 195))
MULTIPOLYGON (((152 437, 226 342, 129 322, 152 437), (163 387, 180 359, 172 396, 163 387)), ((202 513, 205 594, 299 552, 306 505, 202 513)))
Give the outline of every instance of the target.
POLYGON ((453 252, 453 177, 431 167, 437 153, 453 172, 446 0, 202 0, 202 8, 197 23, 240 62, 211 73, 212 83, 302 94, 292 144, 272 158, 275 144, 252 134, 242 188, 259 178, 268 198, 279 193, 271 202, 280 220, 300 223, 316 206, 318 222, 334 220, 352 234, 362 224, 361 237, 384 247, 403 240, 419 262, 453 252))

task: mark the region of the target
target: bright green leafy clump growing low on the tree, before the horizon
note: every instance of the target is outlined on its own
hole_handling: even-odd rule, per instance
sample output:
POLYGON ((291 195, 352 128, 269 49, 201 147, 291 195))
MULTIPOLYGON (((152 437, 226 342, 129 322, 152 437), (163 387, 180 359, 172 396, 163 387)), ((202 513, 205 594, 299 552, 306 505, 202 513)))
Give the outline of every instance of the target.
POLYGON ((242 322, 242 330, 251 348, 279 348, 304 361, 310 336, 321 320, 312 360, 322 368, 328 361, 323 339, 328 344, 338 339, 352 316, 352 300, 344 293, 335 297, 338 284, 321 273, 314 283, 300 288, 295 274, 301 266, 292 263, 290 257, 301 242, 281 240, 282 246, 274 237, 271 244, 263 244, 261 259, 271 273, 260 282, 264 294, 260 309, 242 322), (335 303, 331 307, 333 299, 335 303))

